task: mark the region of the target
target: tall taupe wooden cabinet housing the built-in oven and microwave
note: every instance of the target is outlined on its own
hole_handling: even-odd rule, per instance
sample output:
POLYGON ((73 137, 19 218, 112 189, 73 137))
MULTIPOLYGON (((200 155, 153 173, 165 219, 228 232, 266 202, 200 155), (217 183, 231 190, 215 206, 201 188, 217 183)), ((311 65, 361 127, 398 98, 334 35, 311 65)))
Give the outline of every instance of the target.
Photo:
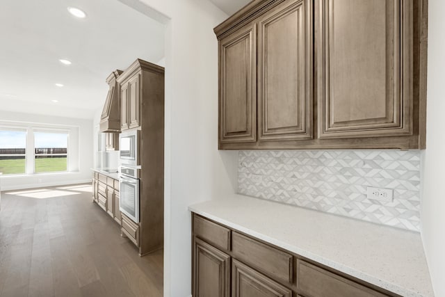
POLYGON ((118 78, 121 130, 140 130, 139 223, 122 214, 122 234, 145 255, 163 248, 164 68, 137 59, 118 78))

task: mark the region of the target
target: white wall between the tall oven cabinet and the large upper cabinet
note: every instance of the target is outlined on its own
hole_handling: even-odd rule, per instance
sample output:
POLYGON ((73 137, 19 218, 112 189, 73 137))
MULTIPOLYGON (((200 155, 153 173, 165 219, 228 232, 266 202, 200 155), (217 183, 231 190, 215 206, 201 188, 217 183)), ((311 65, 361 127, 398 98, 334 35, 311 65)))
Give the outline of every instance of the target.
MULTIPOLYGON (((140 8, 140 2, 121 0, 140 8)), ((189 204, 235 193, 237 152, 218 152, 218 42, 207 0, 142 0, 165 23, 164 296, 191 294, 189 204), (162 13, 163 16, 159 16, 162 13)), ((156 61, 154 61, 156 63, 156 61)))

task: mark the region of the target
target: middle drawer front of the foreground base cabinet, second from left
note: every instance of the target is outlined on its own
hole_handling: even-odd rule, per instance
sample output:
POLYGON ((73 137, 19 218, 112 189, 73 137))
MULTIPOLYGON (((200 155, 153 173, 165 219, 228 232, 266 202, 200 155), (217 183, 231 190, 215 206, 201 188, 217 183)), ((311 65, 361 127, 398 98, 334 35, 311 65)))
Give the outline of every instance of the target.
POLYGON ((249 264, 276 280, 292 282, 292 255, 254 239, 232 233, 232 250, 236 259, 249 264))

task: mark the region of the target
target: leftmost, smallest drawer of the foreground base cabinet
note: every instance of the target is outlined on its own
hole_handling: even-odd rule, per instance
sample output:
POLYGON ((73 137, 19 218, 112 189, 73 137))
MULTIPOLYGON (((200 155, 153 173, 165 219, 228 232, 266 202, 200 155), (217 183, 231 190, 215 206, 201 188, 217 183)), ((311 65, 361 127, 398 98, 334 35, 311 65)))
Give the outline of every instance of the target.
POLYGON ((193 226, 195 236, 204 239, 204 241, 213 244, 213 246, 221 250, 230 250, 231 232, 226 227, 196 215, 193 217, 193 226))

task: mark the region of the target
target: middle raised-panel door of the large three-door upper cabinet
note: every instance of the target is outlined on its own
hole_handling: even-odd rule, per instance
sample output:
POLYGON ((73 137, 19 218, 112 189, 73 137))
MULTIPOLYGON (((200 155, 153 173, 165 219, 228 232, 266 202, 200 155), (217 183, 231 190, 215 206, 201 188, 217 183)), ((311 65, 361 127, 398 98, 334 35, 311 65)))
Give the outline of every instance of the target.
POLYGON ((259 19, 259 141, 312 138, 312 1, 259 19))

